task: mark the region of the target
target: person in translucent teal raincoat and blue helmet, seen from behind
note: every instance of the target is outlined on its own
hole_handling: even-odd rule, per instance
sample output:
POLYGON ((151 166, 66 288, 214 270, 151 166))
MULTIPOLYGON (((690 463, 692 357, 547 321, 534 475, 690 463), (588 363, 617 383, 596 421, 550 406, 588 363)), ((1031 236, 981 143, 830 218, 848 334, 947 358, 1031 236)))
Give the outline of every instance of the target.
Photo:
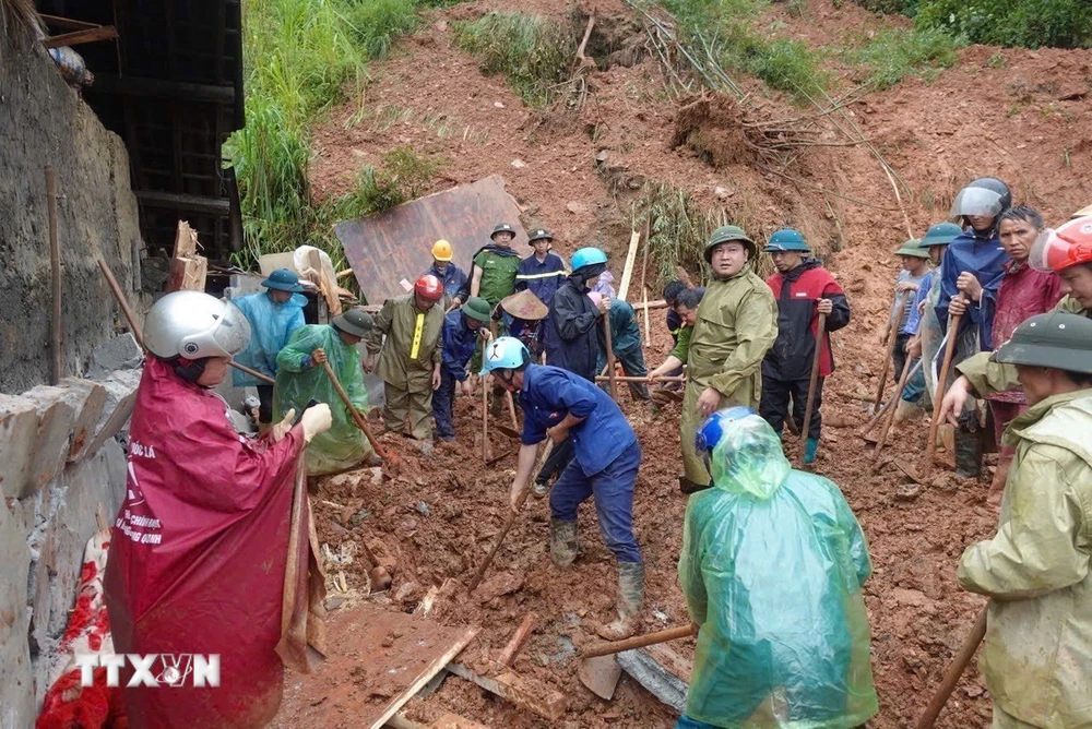
POLYGON ((714 413, 695 446, 713 488, 690 497, 679 582, 698 636, 675 725, 843 728, 878 712, 860 586, 871 561, 838 487, 793 470, 753 410, 714 413), (770 572, 771 555, 776 571, 770 572))

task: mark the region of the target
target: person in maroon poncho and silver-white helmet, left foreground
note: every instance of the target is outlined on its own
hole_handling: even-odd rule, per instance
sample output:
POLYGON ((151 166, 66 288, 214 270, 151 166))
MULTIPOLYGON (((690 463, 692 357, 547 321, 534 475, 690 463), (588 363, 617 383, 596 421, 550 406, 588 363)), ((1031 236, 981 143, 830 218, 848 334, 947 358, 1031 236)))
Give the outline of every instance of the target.
MULTIPOLYGON (((104 583, 114 650, 161 656, 150 669, 158 688, 124 689, 131 727, 261 727, 281 704, 292 482, 330 408, 239 438, 212 387, 249 339, 238 309, 199 291, 168 294, 144 323, 151 354, 104 583), (186 665, 166 662, 183 654, 218 654, 219 688, 195 686, 186 665), (178 688, 163 685, 169 668, 183 671, 178 688)), ((122 669, 121 685, 132 677, 122 669)))

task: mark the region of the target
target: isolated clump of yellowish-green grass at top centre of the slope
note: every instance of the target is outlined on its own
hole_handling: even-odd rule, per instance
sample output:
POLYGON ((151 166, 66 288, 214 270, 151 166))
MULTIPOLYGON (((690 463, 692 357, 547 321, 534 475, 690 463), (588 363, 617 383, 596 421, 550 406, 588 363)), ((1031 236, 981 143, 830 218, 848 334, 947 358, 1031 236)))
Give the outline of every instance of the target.
POLYGON ((459 47, 482 58, 482 71, 505 74, 532 107, 558 97, 579 43, 574 23, 522 12, 491 12, 454 29, 459 47))

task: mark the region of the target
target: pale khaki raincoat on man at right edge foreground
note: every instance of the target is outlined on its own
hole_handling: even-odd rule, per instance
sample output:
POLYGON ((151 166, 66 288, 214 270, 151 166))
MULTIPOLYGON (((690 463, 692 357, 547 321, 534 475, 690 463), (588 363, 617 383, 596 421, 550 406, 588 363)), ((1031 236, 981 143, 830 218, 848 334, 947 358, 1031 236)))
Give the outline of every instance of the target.
POLYGON ((1031 406, 1002 442, 1017 453, 997 535, 958 574, 993 598, 980 666, 994 726, 1092 727, 1092 390, 1031 406))

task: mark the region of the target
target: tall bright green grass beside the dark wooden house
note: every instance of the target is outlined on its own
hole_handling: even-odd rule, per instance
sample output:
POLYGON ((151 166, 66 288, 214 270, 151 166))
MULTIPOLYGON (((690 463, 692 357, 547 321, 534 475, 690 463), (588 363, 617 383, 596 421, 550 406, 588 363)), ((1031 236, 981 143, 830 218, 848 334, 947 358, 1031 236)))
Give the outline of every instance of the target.
POLYGON ((436 172, 434 160, 399 147, 380 170, 364 169, 358 189, 317 203, 308 181, 312 124, 331 106, 358 95, 368 60, 413 31, 417 9, 443 0, 261 0, 244 5, 247 126, 225 154, 235 166, 245 248, 235 263, 311 244, 336 267, 344 253, 332 224, 415 196, 436 172), (396 202, 392 202, 396 201, 396 202))

